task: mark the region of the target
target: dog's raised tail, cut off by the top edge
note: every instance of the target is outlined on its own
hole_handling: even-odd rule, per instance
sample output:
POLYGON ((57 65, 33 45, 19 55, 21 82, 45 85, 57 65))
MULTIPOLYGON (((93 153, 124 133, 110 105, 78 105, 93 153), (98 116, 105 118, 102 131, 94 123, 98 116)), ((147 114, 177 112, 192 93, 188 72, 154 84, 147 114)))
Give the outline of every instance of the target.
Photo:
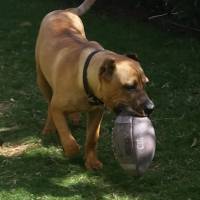
POLYGON ((81 16, 81 15, 85 14, 90 9, 90 7, 95 3, 95 1, 96 0, 85 0, 77 8, 71 8, 71 9, 68 9, 68 10, 70 12, 77 14, 78 16, 81 16))

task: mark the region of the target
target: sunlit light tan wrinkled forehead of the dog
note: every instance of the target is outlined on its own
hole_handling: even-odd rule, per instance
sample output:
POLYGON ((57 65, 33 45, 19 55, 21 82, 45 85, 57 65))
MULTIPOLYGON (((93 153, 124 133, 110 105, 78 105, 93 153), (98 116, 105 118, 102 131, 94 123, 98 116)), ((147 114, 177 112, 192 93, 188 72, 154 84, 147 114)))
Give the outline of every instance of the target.
POLYGON ((147 82, 139 62, 122 60, 116 63, 116 75, 122 85, 139 84, 143 86, 147 82))

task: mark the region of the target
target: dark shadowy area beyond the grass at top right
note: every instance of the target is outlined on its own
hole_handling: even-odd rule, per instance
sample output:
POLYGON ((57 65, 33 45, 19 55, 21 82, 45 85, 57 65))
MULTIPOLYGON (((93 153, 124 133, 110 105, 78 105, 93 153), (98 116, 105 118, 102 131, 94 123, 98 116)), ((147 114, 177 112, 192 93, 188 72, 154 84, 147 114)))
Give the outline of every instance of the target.
MULTIPOLYGON (((72 3, 78 5, 80 0, 67 1, 69 5, 72 3)), ((200 33, 199 0, 97 0, 94 9, 99 12, 128 15, 159 25, 167 31, 200 33)))

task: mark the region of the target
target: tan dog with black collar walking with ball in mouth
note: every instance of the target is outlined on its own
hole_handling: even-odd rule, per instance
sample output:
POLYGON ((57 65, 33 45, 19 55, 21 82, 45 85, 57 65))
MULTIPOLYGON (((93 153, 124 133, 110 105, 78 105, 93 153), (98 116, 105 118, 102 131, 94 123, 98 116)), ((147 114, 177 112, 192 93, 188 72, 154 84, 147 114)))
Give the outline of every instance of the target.
MULTIPOLYGON (((36 44, 37 82, 48 100, 43 132, 57 130, 64 153, 73 156, 79 145, 71 134, 66 115, 88 112, 85 165, 98 169, 96 155, 104 106, 116 112, 144 116, 153 103, 144 91, 148 81, 138 60, 119 55, 88 41, 79 15, 95 0, 79 7, 49 13, 42 21, 36 44)), ((75 117, 76 119, 76 117, 75 117)))

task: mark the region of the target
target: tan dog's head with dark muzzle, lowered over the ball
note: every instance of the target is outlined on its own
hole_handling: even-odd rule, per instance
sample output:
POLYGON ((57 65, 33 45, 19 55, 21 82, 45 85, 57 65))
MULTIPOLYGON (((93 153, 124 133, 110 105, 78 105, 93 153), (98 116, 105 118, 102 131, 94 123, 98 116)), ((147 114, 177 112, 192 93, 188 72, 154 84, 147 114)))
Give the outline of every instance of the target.
POLYGON ((106 58, 99 78, 103 101, 115 113, 147 116, 153 111, 154 104, 144 89, 149 80, 134 54, 106 58))

